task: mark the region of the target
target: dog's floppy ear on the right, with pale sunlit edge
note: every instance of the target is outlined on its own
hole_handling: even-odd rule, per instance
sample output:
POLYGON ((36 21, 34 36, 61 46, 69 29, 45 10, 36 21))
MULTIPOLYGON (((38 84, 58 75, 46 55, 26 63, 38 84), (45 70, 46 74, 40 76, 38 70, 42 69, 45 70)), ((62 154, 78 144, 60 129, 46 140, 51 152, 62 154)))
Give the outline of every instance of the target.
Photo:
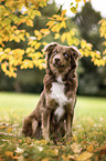
POLYGON ((72 50, 72 57, 77 60, 77 59, 81 59, 82 54, 81 52, 78 51, 78 49, 74 46, 71 46, 71 50, 72 50))

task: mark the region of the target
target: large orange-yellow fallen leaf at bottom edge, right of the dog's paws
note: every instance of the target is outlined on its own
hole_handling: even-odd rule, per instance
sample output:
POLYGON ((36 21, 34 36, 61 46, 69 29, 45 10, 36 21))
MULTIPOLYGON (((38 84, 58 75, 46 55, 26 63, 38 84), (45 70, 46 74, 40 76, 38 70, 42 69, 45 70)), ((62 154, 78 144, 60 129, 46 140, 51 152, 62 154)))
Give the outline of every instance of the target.
POLYGON ((85 160, 88 160, 89 158, 93 157, 93 153, 89 153, 87 151, 81 153, 77 158, 76 158, 76 161, 85 161, 85 160))

